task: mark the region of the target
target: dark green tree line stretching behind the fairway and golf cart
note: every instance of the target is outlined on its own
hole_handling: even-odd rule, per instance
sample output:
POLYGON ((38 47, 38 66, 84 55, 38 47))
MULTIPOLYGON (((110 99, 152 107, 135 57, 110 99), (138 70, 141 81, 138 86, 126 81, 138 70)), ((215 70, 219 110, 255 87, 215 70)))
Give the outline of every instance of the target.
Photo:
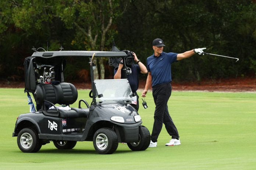
MULTIPOLYGON (((136 53, 146 64, 152 41, 165 52, 194 48, 239 58, 195 55, 172 65, 176 81, 256 76, 256 2, 250 0, 1 0, 0 77, 22 81, 23 62, 33 51, 136 53)), ((113 78, 107 59, 98 59, 95 78, 113 78)), ((66 79, 89 81, 85 62, 70 59, 66 79)), ((142 77, 145 78, 145 77, 142 77)))

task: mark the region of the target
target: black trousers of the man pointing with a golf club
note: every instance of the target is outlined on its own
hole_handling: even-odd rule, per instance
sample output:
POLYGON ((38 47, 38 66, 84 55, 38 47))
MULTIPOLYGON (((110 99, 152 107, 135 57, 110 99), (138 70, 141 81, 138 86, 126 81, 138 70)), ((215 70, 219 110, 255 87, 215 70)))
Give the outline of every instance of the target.
POLYGON ((152 88, 154 103, 156 104, 156 109, 154 112, 154 125, 151 134, 151 140, 153 142, 157 141, 157 138, 163 127, 163 123, 166 130, 172 138, 179 138, 179 133, 176 126, 173 123, 168 112, 167 102, 171 96, 171 83, 163 83, 152 88))

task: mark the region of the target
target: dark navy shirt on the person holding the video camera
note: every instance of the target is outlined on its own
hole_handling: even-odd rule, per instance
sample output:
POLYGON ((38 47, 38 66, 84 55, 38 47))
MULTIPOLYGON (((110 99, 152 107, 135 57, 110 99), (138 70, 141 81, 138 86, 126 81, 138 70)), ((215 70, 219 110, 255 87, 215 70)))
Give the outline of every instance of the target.
MULTIPOLYGON (((129 67, 130 68, 130 67, 129 67)), ((117 73, 118 67, 114 69, 114 75, 117 73)), ((135 93, 139 88, 139 73, 141 73, 141 69, 138 64, 131 65, 132 74, 127 75, 127 79, 132 89, 132 93, 135 93)), ((125 78, 124 71, 121 71, 121 78, 125 78)))

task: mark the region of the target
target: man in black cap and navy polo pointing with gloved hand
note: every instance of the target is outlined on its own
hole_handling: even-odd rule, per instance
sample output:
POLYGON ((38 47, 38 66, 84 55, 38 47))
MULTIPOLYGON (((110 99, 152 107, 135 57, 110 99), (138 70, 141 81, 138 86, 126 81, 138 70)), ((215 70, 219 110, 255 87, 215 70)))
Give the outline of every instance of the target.
POLYGON ((147 81, 142 97, 146 97, 147 90, 152 86, 154 103, 154 124, 149 147, 157 146, 157 138, 161 132, 163 123, 168 134, 172 137, 166 146, 180 145, 179 133, 168 112, 167 102, 171 96, 171 64, 189 58, 195 53, 202 54, 203 49, 196 48, 184 53, 163 52, 164 42, 157 38, 153 40, 154 54, 147 58, 147 81))

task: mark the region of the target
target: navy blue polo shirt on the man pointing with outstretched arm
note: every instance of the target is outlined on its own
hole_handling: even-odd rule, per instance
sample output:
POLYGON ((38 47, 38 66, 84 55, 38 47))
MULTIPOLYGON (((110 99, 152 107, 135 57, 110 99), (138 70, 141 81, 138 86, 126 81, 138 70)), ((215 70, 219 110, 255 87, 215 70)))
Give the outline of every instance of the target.
POLYGON ((171 64, 177 61, 177 53, 162 52, 156 57, 154 54, 147 58, 147 71, 152 75, 152 87, 171 82, 171 64))

